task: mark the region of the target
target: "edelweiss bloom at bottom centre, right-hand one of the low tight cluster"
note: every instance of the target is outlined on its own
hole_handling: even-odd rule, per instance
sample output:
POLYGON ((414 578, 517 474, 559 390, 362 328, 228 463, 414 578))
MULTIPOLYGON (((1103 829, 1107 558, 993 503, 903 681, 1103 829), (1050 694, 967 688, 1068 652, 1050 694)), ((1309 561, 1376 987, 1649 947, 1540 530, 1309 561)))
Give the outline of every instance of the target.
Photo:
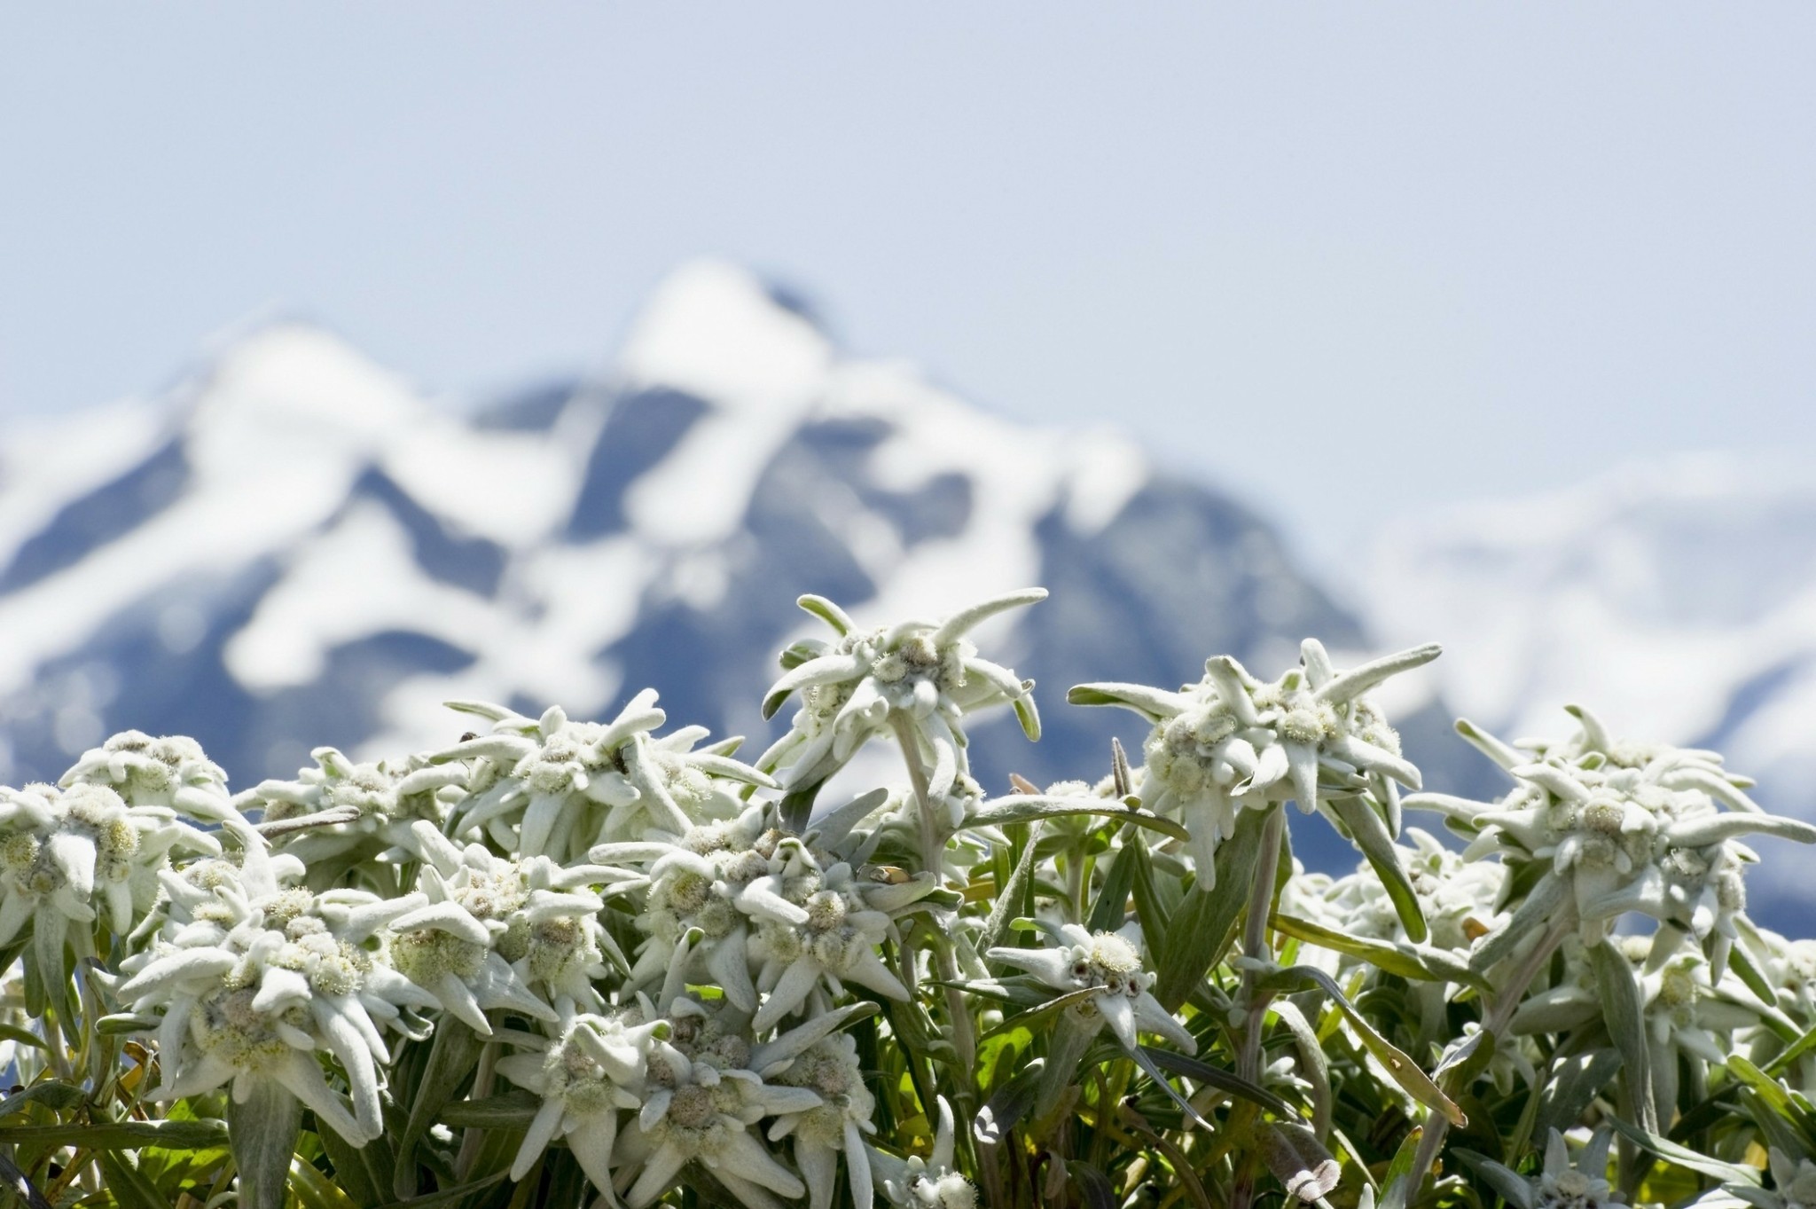
POLYGON ((777 1076, 792 1087, 806 1087, 821 1098, 819 1107, 783 1116, 770 1127, 770 1140, 794 1138, 795 1165, 806 1180, 810 1209, 830 1209, 839 1171, 839 1153, 844 1153, 846 1178, 854 1205, 873 1204, 870 1160, 864 1156, 864 1135, 875 1133, 872 1116, 877 1100, 864 1087, 864 1071, 857 1060, 857 1042, 850 1033, 837 1033, 814 1042, 786 1071, 777 1076))

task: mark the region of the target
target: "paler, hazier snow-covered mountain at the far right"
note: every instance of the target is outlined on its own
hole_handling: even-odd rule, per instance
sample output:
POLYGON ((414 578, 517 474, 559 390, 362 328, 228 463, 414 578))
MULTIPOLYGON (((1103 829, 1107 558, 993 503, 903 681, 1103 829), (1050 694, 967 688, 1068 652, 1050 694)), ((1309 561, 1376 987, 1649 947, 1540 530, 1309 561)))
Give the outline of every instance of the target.
MULTIPOLYGON (((1444 643, 1440 692, 1491 730, 1562 735, 1578 703, 1616 733, 1714 748, 1769 810, 1816 819, 1807 465, 1676 457, 1456 508, 1389 536, 1369 585, 1375 632, 1444 643)), ((1760 848, 1758 888, 1811 859, 1760 848)))

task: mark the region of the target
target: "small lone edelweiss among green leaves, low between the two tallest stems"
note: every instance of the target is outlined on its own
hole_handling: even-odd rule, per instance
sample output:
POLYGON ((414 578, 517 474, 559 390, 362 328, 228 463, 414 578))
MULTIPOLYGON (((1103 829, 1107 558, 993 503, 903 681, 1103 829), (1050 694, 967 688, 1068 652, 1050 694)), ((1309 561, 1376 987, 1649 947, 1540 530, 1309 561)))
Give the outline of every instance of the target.
POLYGON ((1113 931, 1090 933, 1079 924, 1057 929, 1057 948, 990 949, 990 960, 1026 969, 1055 991, 1093 991, 1068 1008, 1068 1015, 1091 1033, 1110 1026, 1124 1049, 1135 1049, 1135 1033, 1159 1033, 1186 1053, 1199 1042, 1148 989, 1153 977, 1142 969, 1140 949, 1113 931))

